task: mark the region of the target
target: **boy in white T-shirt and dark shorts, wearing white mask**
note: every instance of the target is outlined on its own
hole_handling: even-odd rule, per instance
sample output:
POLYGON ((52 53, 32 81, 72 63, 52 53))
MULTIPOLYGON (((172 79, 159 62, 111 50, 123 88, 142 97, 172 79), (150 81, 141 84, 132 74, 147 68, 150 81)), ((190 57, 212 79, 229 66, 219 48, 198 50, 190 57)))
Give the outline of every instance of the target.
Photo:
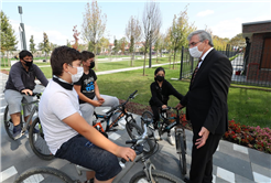
MULTIPOLYGON (((82 117, 73 84, 83 75, 82 54, 67 46, 51 55, 53 79, 39 105, 39 117, 50 151, 61 159, 95 171, 95 183, 110 183, 121 171, 117 157, 131 161, 136 152, 104 137, 82 117)), ((91 179, 94 172, 87 172, 91 179)))

